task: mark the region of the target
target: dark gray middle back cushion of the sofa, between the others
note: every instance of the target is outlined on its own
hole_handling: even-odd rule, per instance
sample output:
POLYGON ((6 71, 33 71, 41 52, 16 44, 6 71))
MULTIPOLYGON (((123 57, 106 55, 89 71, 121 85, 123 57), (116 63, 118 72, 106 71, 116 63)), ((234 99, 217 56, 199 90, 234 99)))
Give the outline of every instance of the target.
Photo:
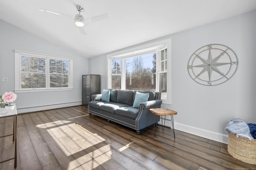
POLYGON ((133 91, 131 90, 118 90, 116 102, 128 104, 132 106, 133 103, 133 91))

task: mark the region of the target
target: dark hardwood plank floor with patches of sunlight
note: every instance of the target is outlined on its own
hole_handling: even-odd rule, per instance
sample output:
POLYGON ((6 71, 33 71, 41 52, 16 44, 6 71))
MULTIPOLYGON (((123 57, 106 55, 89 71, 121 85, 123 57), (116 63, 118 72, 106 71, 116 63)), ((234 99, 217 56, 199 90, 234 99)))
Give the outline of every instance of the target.
MULTIPOLYGON (((12 117, 0 119, 0 135, 12 133, 12 117)), ((88 115, 76 106, 18 115, 17 170, 255 170, 230 156, 227 145, 158 125, 136 131, 88 115)), ((0 138, 0 160, 14 156, 12 136, 0 138)), ((14 160, 0 164, 14 169, 14 160)))

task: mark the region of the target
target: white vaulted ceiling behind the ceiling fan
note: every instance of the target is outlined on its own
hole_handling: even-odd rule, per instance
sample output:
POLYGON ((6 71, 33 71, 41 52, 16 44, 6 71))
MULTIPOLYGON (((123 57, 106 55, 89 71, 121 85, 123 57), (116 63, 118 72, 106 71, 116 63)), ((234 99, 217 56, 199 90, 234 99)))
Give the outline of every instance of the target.
POLYGON ((0 19, 90 58, 256 10, 256 0, 0 0, 0 19), (38 9, 108 19, 83 27, 38 9))

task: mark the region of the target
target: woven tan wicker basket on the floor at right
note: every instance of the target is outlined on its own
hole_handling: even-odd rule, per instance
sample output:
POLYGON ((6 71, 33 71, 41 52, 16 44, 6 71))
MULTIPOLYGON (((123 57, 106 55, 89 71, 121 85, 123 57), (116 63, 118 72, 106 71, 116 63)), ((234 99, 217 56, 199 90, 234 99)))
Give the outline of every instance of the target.
POLYGON ((228 153, 238 160, 256 165, 256 139, 236 137, 229 132, 228 153))

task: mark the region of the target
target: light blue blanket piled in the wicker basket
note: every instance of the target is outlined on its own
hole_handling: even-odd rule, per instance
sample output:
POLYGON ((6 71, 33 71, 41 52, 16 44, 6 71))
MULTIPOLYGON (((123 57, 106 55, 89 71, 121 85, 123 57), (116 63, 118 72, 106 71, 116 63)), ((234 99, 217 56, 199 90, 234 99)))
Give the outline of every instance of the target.
MULTIPOLYGON (((240 118, 231 119, 228 121, 228 125, 224 128, 225 131, 229 131, 233 134, 243 134, 251 139, 254 139, 250 134, 250 128, 247 125, 246 121, 241 120, 240 118)), ((244 137, 245 138, 245 137, 244 137)))

